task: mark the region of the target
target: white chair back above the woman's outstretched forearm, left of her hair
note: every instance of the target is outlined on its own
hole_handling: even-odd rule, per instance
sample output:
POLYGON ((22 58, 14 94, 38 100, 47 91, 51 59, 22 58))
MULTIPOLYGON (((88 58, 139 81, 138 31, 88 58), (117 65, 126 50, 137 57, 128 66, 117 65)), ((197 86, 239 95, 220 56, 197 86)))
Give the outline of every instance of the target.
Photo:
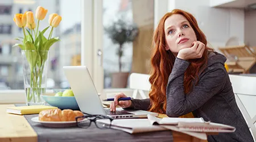
POLYGON ((149 91, 151 84, 148 81, 150 75, 141 73, 131 73, 130 88, 134 89, 133 98, 138 98, 137 94, 141 95, 142 99, 148 98, 144 91, 149 91))

